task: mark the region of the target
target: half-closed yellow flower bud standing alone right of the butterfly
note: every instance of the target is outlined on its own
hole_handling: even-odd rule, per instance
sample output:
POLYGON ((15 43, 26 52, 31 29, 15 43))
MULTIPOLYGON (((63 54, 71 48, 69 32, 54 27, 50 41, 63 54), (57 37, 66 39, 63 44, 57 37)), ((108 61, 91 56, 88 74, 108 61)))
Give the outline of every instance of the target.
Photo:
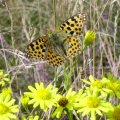
POLYGON ((87 31, 87 33, 85 34, 85 40, 84 40, 85 47, 92 44, 95 38, 96 38, 96 33, 94 31, 87 31))

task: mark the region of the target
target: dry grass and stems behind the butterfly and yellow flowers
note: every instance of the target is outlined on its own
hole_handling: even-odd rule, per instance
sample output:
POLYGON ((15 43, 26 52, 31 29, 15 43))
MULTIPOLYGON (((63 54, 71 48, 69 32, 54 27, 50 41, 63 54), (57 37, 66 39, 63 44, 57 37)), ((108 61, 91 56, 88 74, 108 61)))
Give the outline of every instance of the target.
POLYGON ((60 90, 77 90, 83 88, 80 80, 89 75, 100 79, 111 72, 120 78, 119 33, 119 0, 0 0, 0 69, 11 75, 10 85, 18 99, 34 82, 55 82, 60 90), (87 30, 97 35, 86 51, 66 61, 63 69, 25 57, 28 43, 81 12, 87 13, 81 42, 87 30))

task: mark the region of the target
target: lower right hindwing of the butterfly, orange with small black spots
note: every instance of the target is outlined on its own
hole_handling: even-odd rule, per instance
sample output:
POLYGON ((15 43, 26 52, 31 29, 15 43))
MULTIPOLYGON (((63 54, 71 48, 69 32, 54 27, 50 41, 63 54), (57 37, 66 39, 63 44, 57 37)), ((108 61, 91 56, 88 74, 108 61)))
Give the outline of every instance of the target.
POLYGON ((64 39, 64 41, 69 43, 69 47, 67 49, 67 57, 75 57, 77 54, 79 54, 82 50, 82 45, 79 39, 75 37, 67 37, 64 39))

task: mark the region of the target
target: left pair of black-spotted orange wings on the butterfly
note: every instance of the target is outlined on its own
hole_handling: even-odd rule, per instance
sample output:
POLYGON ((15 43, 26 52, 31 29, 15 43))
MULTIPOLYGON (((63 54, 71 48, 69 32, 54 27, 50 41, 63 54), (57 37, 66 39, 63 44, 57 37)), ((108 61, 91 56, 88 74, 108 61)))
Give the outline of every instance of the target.
POLYGON ((49 64, 58 67, 64 62, 64 57, 57 55, 48 47, 48 37, 42 36, 31 42, 25 49, 26 56, 40 60, 47 60, 49 64))

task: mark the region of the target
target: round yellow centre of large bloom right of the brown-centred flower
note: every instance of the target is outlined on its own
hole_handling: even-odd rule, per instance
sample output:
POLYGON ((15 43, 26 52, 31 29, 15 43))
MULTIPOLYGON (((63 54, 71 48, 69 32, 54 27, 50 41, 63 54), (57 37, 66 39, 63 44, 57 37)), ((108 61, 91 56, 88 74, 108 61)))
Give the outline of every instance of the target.
POLYGON ((96 97, 88 97, 87 99, 87 105, 89 106, 89 108, 96 108, 99 105, 99 99, 97 99, 96 97))

